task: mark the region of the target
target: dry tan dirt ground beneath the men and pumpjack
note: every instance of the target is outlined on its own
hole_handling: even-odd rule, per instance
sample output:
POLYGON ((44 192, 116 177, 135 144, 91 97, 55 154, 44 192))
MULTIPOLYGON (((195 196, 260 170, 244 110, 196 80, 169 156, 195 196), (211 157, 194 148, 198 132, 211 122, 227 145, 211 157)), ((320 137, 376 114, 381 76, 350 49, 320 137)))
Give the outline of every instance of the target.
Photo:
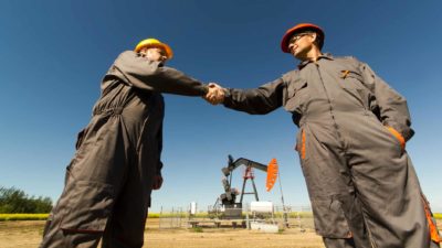
MULTIPOLYGON (((35 248, 43 226, 44 220, 0 222, 0 247, 35 248)), ((324 248, 320 237, 311 229, 265 234, 241 228, 159 229, 158 226, 158 219, 148 220, 145 248, 324 248)), ((442 228, 442 222, 438 226, 442 228)))

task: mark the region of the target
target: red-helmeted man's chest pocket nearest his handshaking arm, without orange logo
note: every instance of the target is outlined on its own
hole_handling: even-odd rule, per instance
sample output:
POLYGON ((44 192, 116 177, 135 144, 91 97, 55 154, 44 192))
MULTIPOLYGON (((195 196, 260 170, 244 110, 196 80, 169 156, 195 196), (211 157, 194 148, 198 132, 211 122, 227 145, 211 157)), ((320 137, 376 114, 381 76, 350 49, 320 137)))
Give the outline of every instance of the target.
POLYGON ((287 100, 284 104, 285 110, 303 114, 309 99, 308 83, 305 79, 297 79, 288 85, 287 100))

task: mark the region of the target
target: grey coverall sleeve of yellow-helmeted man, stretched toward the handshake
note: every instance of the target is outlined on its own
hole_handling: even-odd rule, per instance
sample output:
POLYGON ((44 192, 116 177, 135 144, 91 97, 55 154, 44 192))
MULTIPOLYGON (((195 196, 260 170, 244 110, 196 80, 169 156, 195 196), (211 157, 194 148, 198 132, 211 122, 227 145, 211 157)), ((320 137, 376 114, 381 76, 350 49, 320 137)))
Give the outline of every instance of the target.
POLYGON ((208 86, 171 67, 162 66, 139 56, 133 51, 123 52, 110 68, 127 84, 146 90, 185 96, 203 96, 208 86))

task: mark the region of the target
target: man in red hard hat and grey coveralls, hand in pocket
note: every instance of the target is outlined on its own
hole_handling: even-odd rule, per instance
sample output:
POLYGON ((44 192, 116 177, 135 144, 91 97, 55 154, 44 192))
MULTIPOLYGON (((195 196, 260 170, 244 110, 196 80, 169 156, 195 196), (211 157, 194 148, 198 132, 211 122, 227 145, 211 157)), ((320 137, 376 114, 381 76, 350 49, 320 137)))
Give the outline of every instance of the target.
POLYGON ((354 57, 320 52, 323 30, 287 30, 282 50, 301 61, 255 89, 224 89, 211 104, 252 115, 284 107, 299 128, 296 150, 316 233, 328 248, 428 248, 440 238, 407 154, 406 99, 354 57))

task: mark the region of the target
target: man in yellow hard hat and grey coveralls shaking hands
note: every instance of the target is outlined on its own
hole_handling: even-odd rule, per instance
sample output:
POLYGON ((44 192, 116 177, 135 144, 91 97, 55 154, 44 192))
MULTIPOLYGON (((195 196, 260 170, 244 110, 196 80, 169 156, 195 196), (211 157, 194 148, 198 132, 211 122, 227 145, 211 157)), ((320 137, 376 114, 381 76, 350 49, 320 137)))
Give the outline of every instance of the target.
POLYGON ((122 53, 102 82, 88 126, 78 133, 65 187, 43 248, 143 247, 151 190, 161 187, 161 93, 204 96, 207 85, 164 66, 171 48, 156 39, 122 53))

